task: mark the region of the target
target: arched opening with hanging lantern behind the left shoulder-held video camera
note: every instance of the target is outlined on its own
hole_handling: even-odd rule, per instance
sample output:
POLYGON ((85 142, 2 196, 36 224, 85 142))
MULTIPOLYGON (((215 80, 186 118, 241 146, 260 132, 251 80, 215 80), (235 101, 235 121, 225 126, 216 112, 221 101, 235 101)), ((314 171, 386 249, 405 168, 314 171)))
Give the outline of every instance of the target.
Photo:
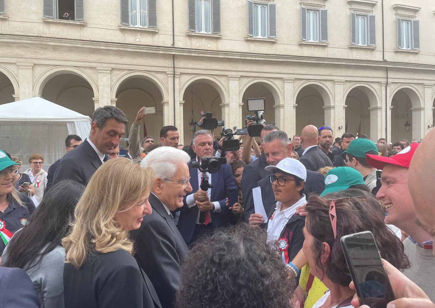
MULTIPOLYGON (((218 90, 210 83, 198 80, 189 84, 183 93, 183 132, 184 132, 184 145, 190 145, 192 142, 192 132, 189 126, 189 119, 192 115, 195 117, 196 122, 201 120, 201 111, 213 112, 213 118, 224 120, 222 118, 222 98, 218 90)), ((226 125, 226 123, 225 123, 226 125)), ((201 129, 196 126, 196 130, 201 129)), ((220 137, 222 127, 218 126, 214 131, 214 137, 220 137)))

